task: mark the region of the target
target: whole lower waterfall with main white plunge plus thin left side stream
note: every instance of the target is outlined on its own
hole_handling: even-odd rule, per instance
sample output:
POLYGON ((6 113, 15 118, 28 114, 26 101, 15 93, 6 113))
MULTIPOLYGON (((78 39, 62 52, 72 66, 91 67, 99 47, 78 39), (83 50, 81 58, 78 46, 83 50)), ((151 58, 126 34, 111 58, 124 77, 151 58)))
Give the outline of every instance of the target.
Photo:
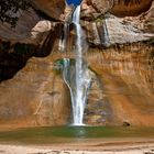
POLYGON ((63 78, 70 90, 72 97, 73 125, 84 125, 84 110, 92 77, 84 59, 84 53, 87 51, 88 45, 79 21, 80 6, 76 8, 73 14, 76 31, 75 59, 63 59, 63 78))

